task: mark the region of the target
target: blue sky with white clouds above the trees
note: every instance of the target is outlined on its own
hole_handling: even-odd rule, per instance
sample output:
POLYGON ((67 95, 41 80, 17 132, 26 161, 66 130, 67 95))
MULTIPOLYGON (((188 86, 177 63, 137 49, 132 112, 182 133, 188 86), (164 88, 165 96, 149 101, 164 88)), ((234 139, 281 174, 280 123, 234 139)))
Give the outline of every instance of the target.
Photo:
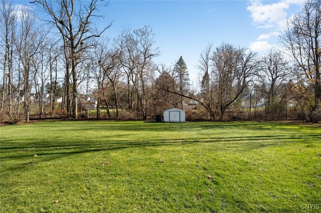
MULTIPOLYGON (((30 0, 15 0, 29 5, 30 0)), ((83 0, 85 1, 85 0, 83 0)), ((190 78, 197 80, 200 53, 209 44, 223 42, 264 54, 281 48, 278 34, 286 19, 296 14, 305 0, 110 0, 100 7, 98 27, 112 22, 104 36, 117 37, 122 29, 149 25, 161 55, 155 59, 168 67, 182 55, 190 78)), ((39 11, 35 8, 36 14, 39 11)))

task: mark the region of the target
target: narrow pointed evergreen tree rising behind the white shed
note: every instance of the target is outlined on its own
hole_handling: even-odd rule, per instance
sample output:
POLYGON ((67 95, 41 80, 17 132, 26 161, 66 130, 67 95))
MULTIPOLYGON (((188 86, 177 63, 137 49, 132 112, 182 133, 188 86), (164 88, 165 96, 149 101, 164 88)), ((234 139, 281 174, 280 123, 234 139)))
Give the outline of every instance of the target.
MULTIPOLYGON (((189 72, 187 71, 187 65, 181 55, 179 60, 174 66, 175 80, 178 84, 178 89, 180 94, 187 94, 190 86, 189 72)), ((183 109, 183 95, 181 95, 181 107, 183 109)))

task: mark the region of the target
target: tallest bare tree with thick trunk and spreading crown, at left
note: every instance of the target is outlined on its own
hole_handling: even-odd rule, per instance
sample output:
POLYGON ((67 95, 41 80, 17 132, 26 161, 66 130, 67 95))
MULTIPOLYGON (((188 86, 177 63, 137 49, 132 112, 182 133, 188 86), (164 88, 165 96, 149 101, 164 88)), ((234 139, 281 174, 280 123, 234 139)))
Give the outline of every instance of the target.
MULTIPOLYGON (((107 28, 111 26, 109 23, 101 31, 94 27, 93 19, 99 15, 99 0, 90 0, 88 3, 82 3, 76 0, 35 0, 49 14, 51 22, 60 32, 65 48, 68 48, 68 59, 71 63, 72 77, 72 116, 78 117, 77 101, 78 101, 78 72, 77 65, 82 57, 84 50, 94 47, 92 39, 99 37, 107 28), (53 5, 53 2, 55 4, 53 5), (77 3, 78 4, 77 4, 77 3)), ((68 72, 68 71, 67 71, 68 72)))

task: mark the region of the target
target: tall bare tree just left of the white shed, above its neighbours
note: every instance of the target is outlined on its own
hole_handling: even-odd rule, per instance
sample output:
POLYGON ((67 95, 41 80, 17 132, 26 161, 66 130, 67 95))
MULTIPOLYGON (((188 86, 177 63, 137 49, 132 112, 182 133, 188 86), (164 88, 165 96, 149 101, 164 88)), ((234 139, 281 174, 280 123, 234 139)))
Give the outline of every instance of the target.
POLYGON ((154 66, 152 59, 159 54, 158 47, 154 48, 154 33, 150 26, 122 32, 118 38, 120 62, 123 73, 127 77, 127 92, 129 110, 132 109, 133 92, 135 92, 135 109, 137 116, 147 117, 148 96, 147 88, 151 87, 154 66))

